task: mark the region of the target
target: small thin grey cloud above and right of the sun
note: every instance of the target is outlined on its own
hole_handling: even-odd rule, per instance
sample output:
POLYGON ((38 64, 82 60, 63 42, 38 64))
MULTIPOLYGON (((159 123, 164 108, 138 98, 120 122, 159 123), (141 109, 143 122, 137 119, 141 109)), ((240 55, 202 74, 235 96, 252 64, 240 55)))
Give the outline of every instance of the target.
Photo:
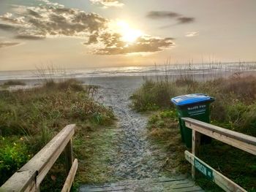
MULTIPOLYGON (((192 23, 195 21, 195 18, 188 18, 188 17, 182 16, 177 12, 167 12, 167 11, 151 11, 151 12, 148 12, 146 17, 150 19, 155 19, 155 20, 164 19, 164 18, 175 19, 178 22, 176 24, 186 24, 186 23, 192 23)), ((169 26, 164 26, 162 28, 166 28, 166 27, 169 27, 169 26)))

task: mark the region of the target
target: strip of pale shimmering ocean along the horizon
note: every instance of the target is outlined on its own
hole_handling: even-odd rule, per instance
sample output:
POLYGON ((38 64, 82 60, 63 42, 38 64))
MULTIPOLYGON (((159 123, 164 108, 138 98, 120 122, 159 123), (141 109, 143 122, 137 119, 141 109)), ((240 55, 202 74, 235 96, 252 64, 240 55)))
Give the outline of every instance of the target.
POLYGON ((120 66, 94 69, 54 69, 0 71, 0 80, 39 80, 45 78, 127 77, 180 74, 220 74, 227 72, 255 72, 256 62, 173 64, 165 66, 120 66))

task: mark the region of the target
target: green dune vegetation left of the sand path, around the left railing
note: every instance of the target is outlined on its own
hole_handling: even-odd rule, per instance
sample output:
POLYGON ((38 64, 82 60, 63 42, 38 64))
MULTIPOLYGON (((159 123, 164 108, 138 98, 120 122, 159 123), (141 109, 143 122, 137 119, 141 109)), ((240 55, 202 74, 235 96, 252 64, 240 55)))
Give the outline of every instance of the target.
MULTIPOLYGON (((83 86, 76 80, 49 80, 42 87, 29 91, 1 92, 0 185, 61 128, 71 123, 77 125, 74 138, 74 153, 79 159, 77 182, 92 182, 86 177, 92 170, 89 162, 94 161, 94 153, 100 155, 101 150, 105 150, 97 148, 98 145, 102 145, 104 139, 114 137, 111 128, 113 111, 92 99, 90 95, 94 91, 97 87, 83 86), (96 139, 98 145, 94 143, 96 139)), ((110 146, 102 147, 108 149, 110 146)), ((108 158, 102 158, 102 161, 108 161, 108 158)), ((42 183, 41 191, 59 191, 58 186, 64 182, 63 161, 60 157, 42 183)))

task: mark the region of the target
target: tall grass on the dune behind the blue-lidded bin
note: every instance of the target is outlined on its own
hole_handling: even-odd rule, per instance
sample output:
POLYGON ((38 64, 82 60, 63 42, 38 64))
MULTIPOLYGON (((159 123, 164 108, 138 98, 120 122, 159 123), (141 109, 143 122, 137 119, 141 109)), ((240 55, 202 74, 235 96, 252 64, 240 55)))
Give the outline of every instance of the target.
POLYGON ((256 136, 256 77, 235 74, 198 82, 178 79, 175 82, 145 79, 131 96, 132 107, 138 111, 173 108, 170 98, 187 93, 206 93, 214 96, 211 119, 219 125, 256 136))

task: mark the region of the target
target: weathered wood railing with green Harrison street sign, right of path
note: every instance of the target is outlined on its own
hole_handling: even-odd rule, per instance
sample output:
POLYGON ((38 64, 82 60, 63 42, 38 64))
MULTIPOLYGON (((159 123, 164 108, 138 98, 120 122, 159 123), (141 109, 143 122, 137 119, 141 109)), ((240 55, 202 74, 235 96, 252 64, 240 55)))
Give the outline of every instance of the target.
POLYGON ((201 161, 200 158, 197 158, 200 150, 200 134, 205 134, 208 137, 225 142, 228 145, 252 153, 252 155, 256 155, 256 137, 251 137, 219 126, 213 126, 209 123, 204 123, 192 118, 182 119, 185 121, 187 128, 192 129, 192 153, 189 153, 187 150, 185 151, 185 158, 192 164, 192 177, 195 178, 195 169, 197 169, 225 191, 246 191, 244 188, 241 188, 241 186, 201 161))

